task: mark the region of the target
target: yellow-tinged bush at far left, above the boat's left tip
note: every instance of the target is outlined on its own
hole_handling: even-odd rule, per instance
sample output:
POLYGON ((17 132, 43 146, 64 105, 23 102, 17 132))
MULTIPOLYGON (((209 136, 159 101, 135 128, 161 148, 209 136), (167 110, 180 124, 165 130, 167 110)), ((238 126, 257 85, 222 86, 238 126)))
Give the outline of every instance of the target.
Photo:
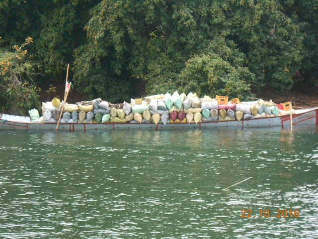
POLYGON ((39 89, 33 84, 33 64, 26 59, 23 48, 32 42, 28 37, 21 47, 14 45, 14 52, 0 48, 0 107, 11 115, 27 115, 28 110, 40 108, 37 100, 39 89))

